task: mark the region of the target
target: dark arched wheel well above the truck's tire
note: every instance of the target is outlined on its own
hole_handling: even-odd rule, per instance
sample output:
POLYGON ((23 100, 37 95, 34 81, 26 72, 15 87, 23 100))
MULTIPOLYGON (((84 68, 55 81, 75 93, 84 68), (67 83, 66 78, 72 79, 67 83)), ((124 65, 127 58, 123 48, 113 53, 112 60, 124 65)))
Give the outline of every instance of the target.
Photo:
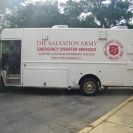
POLYGON ((87 75, 84 75, 83 77, 81 77, 81 79, 79 80, 79 85, 81 85, 82 81, 86 78, 92 78, 92 79, 95 79, 96 81, 98 81, 98 85, 99 87, 101 87, 101 81, 100 79, 96 76, 96 75, 93 75, 93 74, 87 74, 87 75))

